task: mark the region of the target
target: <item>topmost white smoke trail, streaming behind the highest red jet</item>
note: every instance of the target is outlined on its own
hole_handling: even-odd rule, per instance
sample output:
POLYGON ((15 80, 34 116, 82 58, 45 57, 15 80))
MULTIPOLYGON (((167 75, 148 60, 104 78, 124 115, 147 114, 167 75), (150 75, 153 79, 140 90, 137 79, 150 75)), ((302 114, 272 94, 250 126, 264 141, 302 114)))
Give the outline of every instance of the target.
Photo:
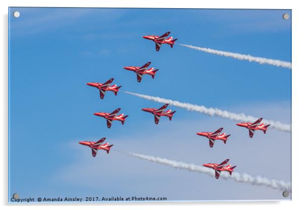
POLYGON ((243 54, 238 54, 238 53, 231 53, 228 51, 221 51, 221 50, 216 50, 216 49, 210 49, 210 48, 205 48, 205 47, 198 47, 198 46, 192 46, 192 45, 187 45, 187 44, 180 44, 182 46, 186 46, 192 49, 196 49, 199 51, 204 51, 206 53, 210 54, 215 54, 219 56, 226 56, 238 60, 246 60, 249 62, 257 62, 259 64, 269 64, 273 66, 278 66, 278 67, 284 67, 291 69, 291 63, 286 62, 286 61, 280 61, 280 60, 273 60, 273 59, 266 59, 266 58, 261 58, 261 57, 253 57, 250 55, 243 55, 243 54))

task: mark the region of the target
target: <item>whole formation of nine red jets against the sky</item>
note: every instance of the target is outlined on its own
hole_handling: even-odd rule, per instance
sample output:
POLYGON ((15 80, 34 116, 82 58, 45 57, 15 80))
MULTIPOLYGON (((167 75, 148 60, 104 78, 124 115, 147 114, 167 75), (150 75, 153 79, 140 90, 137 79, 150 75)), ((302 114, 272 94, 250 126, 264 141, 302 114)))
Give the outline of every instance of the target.
MULTIPOLYGON (((159 51, 162 44, 169 44, 171 46, 171 48, 173 48, 173 45, 175 44, 175 41, 177 39, 173 39, 173 37, 169 37, 167 38, 167 36, 169 36, 170 32, 167 32, 161 36, 155 36, 155 35, 146 35, 143 36, 143 38, 148 39, 148 40, 152 40, 155 42, 155 46, 156 46, 156 50, 159 51)), ((132 71, 134 73, 136 73, 137 76, 137 82, 141 82, 142 80, 142 76, 143 75, 150 75, 153 79, 156 75, 156 72, 159 69, 154 69, 153 67, 149 67, 151 64, 151 62, 147 62, 146 64, 144 64, 143 66, 139 67, 139 66, 126 66, 123 67, 126 70, 132 71)), ((106 81, 105 83, 98 83, 98 82, 89 82, 86 83, 89 86, 92 87, 96 87, 99 90, 99 97, 100 99, 104 99, 106 91, 112 91, 114 92, 115 95, 117 95, 119 88, 121 88, 121 86, 117 86, 117 85, 112 85, 111 83, 113 82, 114 78, 109 79, 108 81, 106 81)), ((167 107, 169 106, 169 103, 164 104, 164 106, 162 106, 159 109, 156 108, 142 108, 141 110, 144 112, 148 112, 154 115, 154 122, 155 124, 158 124, 160 121, 160 118, 162 116, 164 117, 168 117, 169 120, 172 120, 172 117, 174 115, 174 113, 176 111, 172 111, 172 110, 167 110, 167 107)), ((113 121, 120 121, 122 125, 124 125, 124 122, 126 121, 126 118, 128 117, 128 115, 124 116, 124 114, 120 114, 118 115, 118 113, 120 112, 120 108, 116 109, 115 111, 113 111, 112 113, 106 113, 106 112, 98 112, 98 113, 94 113, 95 116, 98 117, 103 117, 106 119, 107 121, 107 127, 111 128, 112 126, 112 122, 113 121)), ((268 127, 270 125, 266 125, 265 123, 262 123, 263 118, 258 119, 257 121, 255 121, 254 123, 251 122, 242 122, 242 123, 237 123, 237 126, 240 127, 244 127, 247 128, 249 131, 249 137, 252 138, 254 136, 254 133, 256 130, 262 130, 265 134, 266 131, 268 129, 268 127)), ((215 132, 198 132, 196 133, 199 136, 205 136, 209 139, 209 146, 213 147, 214 143, 216 140, 221 140, 224 142, 224 144, 226 144, 228 137, 230 136, 227 135, 226 133, 222 133, 223 128, 219 128, 218 130, 216 130, 215 132)), ((107 153, 109 153, 111 147, 113 146, 113 144, 109 145, 109 143, 105 143, 103 144, 103 142, 105 141, 106 138, 102 138, 100 140, 98 140, 97 142, 92 142, 92 141, 80 141, 79 143, 85 146, 88 146, 91 148, 92 150, 92 156, 96 156, 96 153, 99 149, 103 149, 106 150, 107 153)), ((215 170, 215 178, 218 179, 220 177, 220 173, 223 171, 229 172, 230 175, 232 175, 233 169, 236 166, 231 166, 231 165, 227 165, 229 159, 223 161, 220 164, 214 164, 214 163, 209 163, 209 164, 204 164, 202 166, 204 167, 208 167, 208 168, 212 168, 215 170)))

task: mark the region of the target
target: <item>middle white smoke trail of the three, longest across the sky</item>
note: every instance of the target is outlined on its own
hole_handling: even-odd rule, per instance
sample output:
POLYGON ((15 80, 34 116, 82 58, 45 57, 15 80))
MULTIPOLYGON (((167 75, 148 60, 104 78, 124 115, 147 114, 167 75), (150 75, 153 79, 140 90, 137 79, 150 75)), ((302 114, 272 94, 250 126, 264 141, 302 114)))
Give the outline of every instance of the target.
MULTIPOLYGON (((257 119, 259 119, 257 117, 246 116, 243 113, 236 114, 236 113, 219 110, 217 108, 206 108, 205 106, 198 106, 198 105, 191 104, 191 103, 179 102, 177 100, 143 95, 143 94, 138 94, 138 93, 133 93, 133 92, 128 92, 128 91, 125 91, 125 92, 128 94, 131 94, 131 95, 135 95, 135 96, 144 98, 144 99, 154 100, 154 101, 160 102, 160 103, 169 103, 170 105, 175 106, 175 107, 184 108, 189 111, 204 113, 209 116, 219 116, 219 117, 227 118, 227 119, 234 120, 234 121, 244 121, 244 122, 255 122, 257 119)), ((278 121, 265 120, 265 119, 263 120, 263 122, 266 124, 270 124, 271 125, 270 128, 275 128, 280 131, 287 131, 287 132, 291 131, 291 126, 289 124, 284 124, 284 123, 281 123, 278 121)))

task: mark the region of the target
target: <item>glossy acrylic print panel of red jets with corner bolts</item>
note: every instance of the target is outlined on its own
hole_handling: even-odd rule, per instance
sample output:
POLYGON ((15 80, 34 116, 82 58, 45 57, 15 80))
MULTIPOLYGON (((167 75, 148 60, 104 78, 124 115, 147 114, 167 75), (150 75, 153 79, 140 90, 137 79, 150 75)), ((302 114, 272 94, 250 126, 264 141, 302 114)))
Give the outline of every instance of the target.
POLYGON ((9 8, 9 111, 11 203, 290 200, 291 11, 9 8))

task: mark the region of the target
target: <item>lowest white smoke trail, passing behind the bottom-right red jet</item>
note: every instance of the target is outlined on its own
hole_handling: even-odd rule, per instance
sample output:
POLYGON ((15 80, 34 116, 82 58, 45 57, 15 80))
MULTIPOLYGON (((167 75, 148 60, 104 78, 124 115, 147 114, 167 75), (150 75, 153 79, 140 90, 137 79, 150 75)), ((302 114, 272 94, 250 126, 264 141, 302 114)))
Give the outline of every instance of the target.
MULTIPOLYGON (((184 162, 177 162, 177 161, 172 161, 164 158, 158 158, 150 155, 144 155, 144 154, 137 154, 137 153, 132 153, 132 152, 125 152, 127 154, 130 154, 136 158, 143 159, 146 161, 151 161, 154 163, 159 163, 159 164, 164 164, 167 166, 171 166, 175 169, 183 169, 183 170, 188 170, 190 172, 198 172, 198 173, 204 173, 209 176, 214 177, 215 172, 213 169, 194 165, 194 164, 187 164, 184 162)), ((237 172, 233 172, 232 175, 230 176, 228 173, 223 172, 220 175, 220 179, 232 179, 235 182, 242 182, 242 183, 249 183, 251 185, 261 185, 261 186, 266 186, 270 187, 272 189, 279 189, 282 191, 289 191, 291 192, 291 182, 286 182, 282 180, 277 180, 277 179, 268 179, 266 177, 261 177, 261 176, 256 176, 252 177, 248 174, 239 174, 237 172)))

